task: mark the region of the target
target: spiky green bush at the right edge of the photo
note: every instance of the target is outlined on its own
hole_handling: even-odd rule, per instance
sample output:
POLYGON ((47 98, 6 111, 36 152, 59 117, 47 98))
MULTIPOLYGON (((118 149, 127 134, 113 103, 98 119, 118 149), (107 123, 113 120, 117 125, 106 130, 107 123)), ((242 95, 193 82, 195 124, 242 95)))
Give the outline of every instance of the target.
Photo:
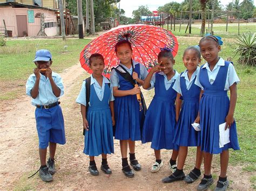
POLYGON ((239 54, 238 62, 242 65, 256 66, 256 33, 242 33, 234 42, 238 47, 234 50, 239 54))

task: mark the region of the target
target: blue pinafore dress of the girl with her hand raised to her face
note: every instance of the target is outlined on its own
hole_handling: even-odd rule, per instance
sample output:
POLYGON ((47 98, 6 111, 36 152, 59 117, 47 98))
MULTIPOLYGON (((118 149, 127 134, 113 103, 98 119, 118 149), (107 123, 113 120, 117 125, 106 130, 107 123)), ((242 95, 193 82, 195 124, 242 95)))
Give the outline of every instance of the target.
POLYGON ((178 150, 178 145, 173 144, 177 93, 172 87, 175 81, 166 90, 164 80, 163 75, 156 73, 155 95, 146 113, 142 143, 151 142, 151 148, 155 150, 162 148, 178 150))

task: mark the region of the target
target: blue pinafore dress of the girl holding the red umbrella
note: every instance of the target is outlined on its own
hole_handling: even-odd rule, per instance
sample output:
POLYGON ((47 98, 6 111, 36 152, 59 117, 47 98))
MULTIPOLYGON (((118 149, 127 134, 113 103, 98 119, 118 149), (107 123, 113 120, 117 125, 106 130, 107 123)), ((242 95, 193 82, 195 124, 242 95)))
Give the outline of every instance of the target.
MULTIPOLYGON (((134 66, 134 72, 140 75, 139 64, 134 66)), ((118 90, 130 90, 134 86, 118 74, 118 90)), ((139 111, 139 102, 136 95, 114 97, 114 117, 116 121, 115 139, 119 140, 141 140, 140 129, 143 125, 143 110, 139 111)))

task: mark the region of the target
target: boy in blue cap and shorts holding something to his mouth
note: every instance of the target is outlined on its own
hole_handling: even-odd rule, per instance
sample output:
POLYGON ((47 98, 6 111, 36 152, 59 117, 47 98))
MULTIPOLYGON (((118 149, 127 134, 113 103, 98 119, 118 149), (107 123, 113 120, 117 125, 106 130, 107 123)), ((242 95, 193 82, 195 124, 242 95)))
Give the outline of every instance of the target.
POLYGON ((49 182, 53 180, 52 175, 56 172, 54 159, 56 144, 66 143, 64 119, 58 102, 59 97, 64 93, 64 87, 62 78, 50 68, 52 56, 47 49, 37 51, 33 62, 36 68, 26 82, 26 94, 32 97, 31 103, 36 106, 36 128, 41 161, 39 176, 43 181, 49 182), (50 157, 46 163, 48 146, 50 157))

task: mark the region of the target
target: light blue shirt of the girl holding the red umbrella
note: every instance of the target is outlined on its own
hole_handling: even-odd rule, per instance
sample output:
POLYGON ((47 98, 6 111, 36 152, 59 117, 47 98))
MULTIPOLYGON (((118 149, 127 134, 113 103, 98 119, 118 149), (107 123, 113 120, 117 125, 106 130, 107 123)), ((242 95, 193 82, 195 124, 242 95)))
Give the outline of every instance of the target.
MULTIPOLYGON (((142 63, 139 63, 134 60, 132 60, 132 64, 133 64, 133 68, 135 68, 135 65, 139 65, 139 72, 140 72, 139 79, 145 80, 146 76, 148 74, 146 67, 144 65, 142 65, 142 63)), ((129 72, 132 75, 132 67, 129 69, 125 65, 123 65, 121 62, 119 63, 119 65, 123 66, 127 70, 127 72, 129 72)), ((114 70, 114 69, 111 72, 110 80, 111 80, 113 87, 120 87, 119 86, 119 77, 118 77, 116 70, 114 70)))

